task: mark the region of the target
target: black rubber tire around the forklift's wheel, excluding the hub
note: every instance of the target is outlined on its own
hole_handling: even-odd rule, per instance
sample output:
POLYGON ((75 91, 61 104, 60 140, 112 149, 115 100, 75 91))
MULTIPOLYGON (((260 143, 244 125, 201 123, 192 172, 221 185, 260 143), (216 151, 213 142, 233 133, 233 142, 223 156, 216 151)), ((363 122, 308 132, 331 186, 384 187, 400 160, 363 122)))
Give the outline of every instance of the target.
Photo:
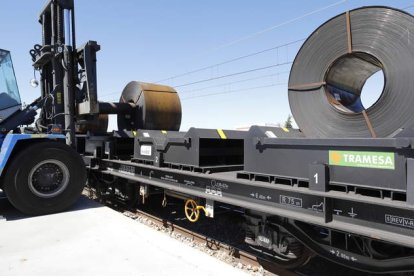
POLYGON ((45 141, 21 150, 10 161, 4 176, 4 192, 12 205, 27 215, 57 213, 69 208, 80 196, 86 182, 86 169, 80 155, 66 144, 45 141), (56 197, 40 198, 30 192, 27 175, 47 158, 62 161, 69 169, 69 185, 56 197))

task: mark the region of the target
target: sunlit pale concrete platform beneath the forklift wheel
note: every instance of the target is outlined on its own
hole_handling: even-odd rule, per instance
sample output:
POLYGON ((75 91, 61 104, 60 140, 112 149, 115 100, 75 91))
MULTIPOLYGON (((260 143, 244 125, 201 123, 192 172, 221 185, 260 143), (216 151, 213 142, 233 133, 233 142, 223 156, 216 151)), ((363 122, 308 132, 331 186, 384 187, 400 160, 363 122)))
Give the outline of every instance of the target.
POLYGON ((107 207, 24 217, 0 199, 0 275, 245 275, 107 207))

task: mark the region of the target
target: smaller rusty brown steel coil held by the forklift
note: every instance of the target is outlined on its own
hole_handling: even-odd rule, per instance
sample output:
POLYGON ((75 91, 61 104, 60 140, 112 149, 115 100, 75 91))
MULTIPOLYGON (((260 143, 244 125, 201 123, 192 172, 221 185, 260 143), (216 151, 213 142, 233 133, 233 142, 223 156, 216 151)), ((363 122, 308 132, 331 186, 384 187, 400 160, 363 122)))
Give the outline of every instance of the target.
POLYGON ((172 87, 138 81, 123 90, 121 103, 136 106, 131 113, 118 114, 119 130, 179 130, 181 102, 172 87))

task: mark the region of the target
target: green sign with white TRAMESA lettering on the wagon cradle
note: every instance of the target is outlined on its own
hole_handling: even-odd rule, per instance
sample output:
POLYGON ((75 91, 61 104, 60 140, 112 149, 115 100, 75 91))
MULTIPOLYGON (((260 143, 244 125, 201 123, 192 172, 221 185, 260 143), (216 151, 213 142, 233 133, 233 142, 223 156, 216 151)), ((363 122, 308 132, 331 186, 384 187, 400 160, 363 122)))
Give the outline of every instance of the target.
POLYGON ((329 151, 329 165, 373 169, 395 169, 395 154, 371 151, 329 151))

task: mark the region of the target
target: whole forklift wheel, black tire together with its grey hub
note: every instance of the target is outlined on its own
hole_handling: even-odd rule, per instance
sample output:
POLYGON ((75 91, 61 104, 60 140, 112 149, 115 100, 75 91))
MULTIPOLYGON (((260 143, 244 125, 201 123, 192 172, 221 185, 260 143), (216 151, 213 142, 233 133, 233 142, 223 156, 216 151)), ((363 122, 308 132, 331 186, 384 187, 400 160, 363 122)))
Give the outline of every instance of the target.
POLYGON ((79 198, 86 182, 80 155, 58 142, 40 142, 20 151, 4 177, 4 192, 27 215, 57 213, 79 198))

